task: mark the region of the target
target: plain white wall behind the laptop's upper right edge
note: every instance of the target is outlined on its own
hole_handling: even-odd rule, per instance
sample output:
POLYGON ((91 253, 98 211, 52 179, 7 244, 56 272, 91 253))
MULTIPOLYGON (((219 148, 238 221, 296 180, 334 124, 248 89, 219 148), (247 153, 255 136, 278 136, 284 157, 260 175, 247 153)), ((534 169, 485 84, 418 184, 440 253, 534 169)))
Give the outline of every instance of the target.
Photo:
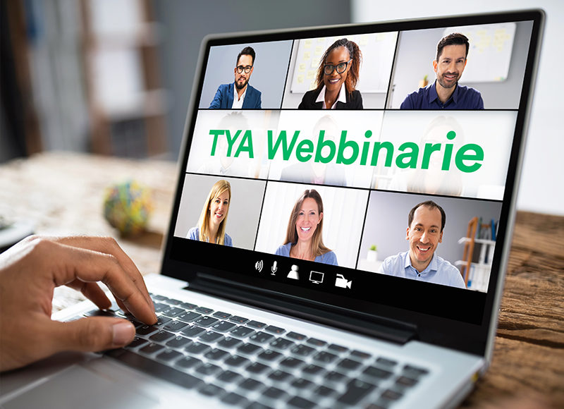
POLYGON ((543 8, 546 13, 544 41, 539 61, 537 86, 529 123, 529 136, 522 168, 517 208, 532 212, 564 215, 564 183, 561 158, 564 153, 564 93, 560 70, 564 66, 561 26, 562 0, 475 0, 449 3, 398 0, 393 2, 353 0, 355 23, 448 16, 489 11, 543 8))

